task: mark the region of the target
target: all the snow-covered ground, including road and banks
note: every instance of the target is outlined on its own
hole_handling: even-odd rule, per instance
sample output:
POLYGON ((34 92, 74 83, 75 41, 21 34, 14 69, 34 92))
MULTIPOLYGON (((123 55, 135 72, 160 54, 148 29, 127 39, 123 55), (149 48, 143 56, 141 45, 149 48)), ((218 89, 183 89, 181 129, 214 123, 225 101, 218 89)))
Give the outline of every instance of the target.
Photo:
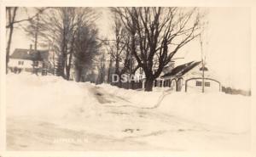
POLYGON ((250 149, 250 97, 7 76, 8 150, 250 149))

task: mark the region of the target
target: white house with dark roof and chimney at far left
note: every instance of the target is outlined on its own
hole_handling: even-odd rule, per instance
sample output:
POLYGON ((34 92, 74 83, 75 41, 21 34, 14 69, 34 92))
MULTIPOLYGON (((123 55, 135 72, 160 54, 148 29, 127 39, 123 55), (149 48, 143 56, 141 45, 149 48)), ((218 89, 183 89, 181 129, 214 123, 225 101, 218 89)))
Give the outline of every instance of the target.
POLYGON ((16 48, 14 53, 9 57, 9 70, 15 73, 22 71, 27 72, 43 72, 49 66, 49 51, 48 50, 33 50, 16 48))

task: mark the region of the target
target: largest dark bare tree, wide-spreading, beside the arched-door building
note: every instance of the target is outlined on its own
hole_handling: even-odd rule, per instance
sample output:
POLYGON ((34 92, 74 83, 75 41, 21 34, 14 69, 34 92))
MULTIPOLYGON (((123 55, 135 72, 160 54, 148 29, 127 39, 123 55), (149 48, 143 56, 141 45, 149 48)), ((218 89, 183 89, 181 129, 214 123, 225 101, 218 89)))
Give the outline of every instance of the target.
POLYGON ((132 53, 146 76, 145 91, 152 91, 154 79, 160 76, 165 65, 200 34, 200 15, 196 8, 112 9, 131 33, 132 53), (139 51, 134 48, 135 36, 139 51))

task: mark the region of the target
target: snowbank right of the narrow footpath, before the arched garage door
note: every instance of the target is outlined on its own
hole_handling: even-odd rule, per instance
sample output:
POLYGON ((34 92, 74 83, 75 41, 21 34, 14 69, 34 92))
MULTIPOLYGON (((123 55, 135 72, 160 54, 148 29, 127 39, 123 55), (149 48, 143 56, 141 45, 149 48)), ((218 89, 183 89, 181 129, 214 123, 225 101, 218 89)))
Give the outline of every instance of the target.
POLYGON ((159 109, 226 132, 248 132, 250 103, 250 97, 225 93, 172 93, 159 109))

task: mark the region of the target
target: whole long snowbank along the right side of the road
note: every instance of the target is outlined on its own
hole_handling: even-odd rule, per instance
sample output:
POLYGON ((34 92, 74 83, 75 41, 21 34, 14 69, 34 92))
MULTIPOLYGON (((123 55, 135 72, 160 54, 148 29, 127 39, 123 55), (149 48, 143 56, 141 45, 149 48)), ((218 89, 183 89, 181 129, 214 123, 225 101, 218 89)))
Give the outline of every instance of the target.
POLYGON ((98 87, 128 99, 137 107, 156 107, 163 114, 212 126, 224 132, 247 132, 250 129, 250 97, 225 93, 176 93, 169 88, 154 88, 153 92, 145 93, 107 84, 98 87))

